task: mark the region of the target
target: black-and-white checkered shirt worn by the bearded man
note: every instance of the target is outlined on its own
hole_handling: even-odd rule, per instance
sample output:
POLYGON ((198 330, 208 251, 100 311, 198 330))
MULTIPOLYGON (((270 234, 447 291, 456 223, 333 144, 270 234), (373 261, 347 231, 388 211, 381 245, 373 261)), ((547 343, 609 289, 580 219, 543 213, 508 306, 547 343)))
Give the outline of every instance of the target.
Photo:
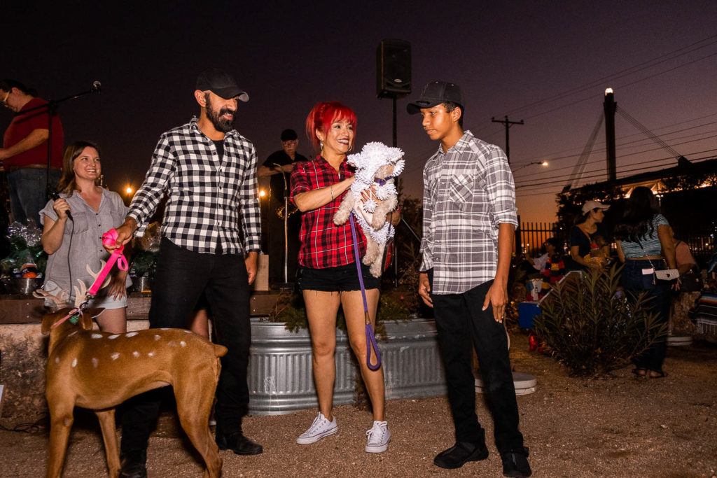
POLYGON ((196 118, 163 133, 144 183, 130 204, 128 217, 137 221, 136 236, 144 235, 148 219, 166 193, 162 235, 177 246, 211 254, 259 251, 256 173, 254 145, 237 130, 224 136, 221 160, 196 118))

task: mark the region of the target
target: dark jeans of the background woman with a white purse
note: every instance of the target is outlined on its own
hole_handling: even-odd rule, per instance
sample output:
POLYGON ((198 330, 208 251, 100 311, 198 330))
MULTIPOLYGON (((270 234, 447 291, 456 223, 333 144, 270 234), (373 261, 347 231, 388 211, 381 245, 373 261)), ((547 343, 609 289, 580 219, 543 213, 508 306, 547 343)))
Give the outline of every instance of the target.
MULTIPOLYGON (((666 324, 670 319, 670 302, 672 300, 670 283, 655 279, 655 274, 653 273, 642 273, 643 269, 652 269, 653 265, 656 270, 666 268, 665 262, 658 259, 652 261, 627 259, 625 266, 622 267, 622 287, 632 297, 640 294, 640 292, 647 291, 648 297, 652 297, 652 300, 647 302, 647 307, 650 307, 652 312, 657 314, 658 322, 666 324), (653 284, 652 282, 655 283, 653 284)), ((667 340, 663 335, 658 337, 657 342, 650 345, 650 348, 645 352, 632 359, 632 362, 638 368, 661 372, 663 371, 663 362, 665 361, 667 349, 667 340)))

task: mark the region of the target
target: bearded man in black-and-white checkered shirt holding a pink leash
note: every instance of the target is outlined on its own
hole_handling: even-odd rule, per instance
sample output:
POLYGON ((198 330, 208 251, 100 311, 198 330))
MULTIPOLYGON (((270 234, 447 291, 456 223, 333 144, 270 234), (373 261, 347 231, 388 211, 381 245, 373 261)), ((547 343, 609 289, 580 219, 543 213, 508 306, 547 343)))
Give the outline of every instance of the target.
MULTIPOLYGON (((105 249, 113 252, 133 234, 142 236, 159 201, 167 196, 150 326, 185 328, 204 292, 217 342, 229 349, 222 357, 217 387, 217 445, 236 454, 260 454, 262 446, 242 433, 249 406, 249 285, 261 249, 256 150, 234 129, 238 102, 248 101, 249 95, 234 78, 214 68, 197 78, 194 99, 199 119, 161 135, 144 183, 117 229, 116 245, 105 249)), ((158 392, 128 402, 120 446, 122 477, 147 476, 147 444, 158 416, 158 392)))

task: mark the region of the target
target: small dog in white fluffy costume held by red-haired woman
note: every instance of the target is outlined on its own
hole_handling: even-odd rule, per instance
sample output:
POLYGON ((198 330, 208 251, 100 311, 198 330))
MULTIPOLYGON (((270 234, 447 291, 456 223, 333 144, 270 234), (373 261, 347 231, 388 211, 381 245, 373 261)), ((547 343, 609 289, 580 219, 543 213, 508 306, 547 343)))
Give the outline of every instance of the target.
POLYGON ((361 153, 348 156, 347 163, 356 168, 356 179, 341 201, 333 224, 345 224, 353 211, 356 221, 364 229, 366 236, 366 255, 364 264, 371 266, 371 274, 381 277, 381 262, 384 258, 386 242, 394 236, 394 228, 386 222, 386 214, 396 209, 398 204, 394 178, 404 168, 404 153, 399 148, 391 148, 384 143, 366 143, 361 153), (373 194, 364 201, 361 193, 373 194), (374 201, 374 196, 381 202, 374 201))

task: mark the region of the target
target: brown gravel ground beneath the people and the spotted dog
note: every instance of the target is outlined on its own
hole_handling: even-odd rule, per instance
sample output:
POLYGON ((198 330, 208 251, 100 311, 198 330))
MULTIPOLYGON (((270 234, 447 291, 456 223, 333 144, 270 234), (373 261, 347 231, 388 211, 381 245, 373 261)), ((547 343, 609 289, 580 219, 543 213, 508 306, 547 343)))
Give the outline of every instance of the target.
MULTIPOLYGON (((516 371, 538 379, 535 393, 518 397, 521 431, 531 449, 534 477, 715 477, 717 474, 717 345, 671 347, 669 376, 637 379, 630 368, 599 379, 570 378, 552 358, 529 353, 525 335, 512 334, 516 371)), ((339 432, 313 445, 295 438, 314 410, 282 416, 250 416, 244 431, 264 453, 239 457, 222 451, 224 477, 501 476, 492 439, 490 457, 444 470, 433 457, 453 444, 452 421, 443 397, 387 403, 391 444, 367 454, 368 411, 335 409, 339 432)), ((99 427, 80 412, 70 438, 65 477, 105 476, 99 427)), ((492 436, 488 408, 478 396, 478 417, 492 436)), ((9 426, 11 424, 4 424, 9 426)), ((47 433, 0 431, 2 477, 44 474, 47 433)), ((172 414, 161 416, 150 439, 150 477, 199 477, 199 455, 172 414)))

